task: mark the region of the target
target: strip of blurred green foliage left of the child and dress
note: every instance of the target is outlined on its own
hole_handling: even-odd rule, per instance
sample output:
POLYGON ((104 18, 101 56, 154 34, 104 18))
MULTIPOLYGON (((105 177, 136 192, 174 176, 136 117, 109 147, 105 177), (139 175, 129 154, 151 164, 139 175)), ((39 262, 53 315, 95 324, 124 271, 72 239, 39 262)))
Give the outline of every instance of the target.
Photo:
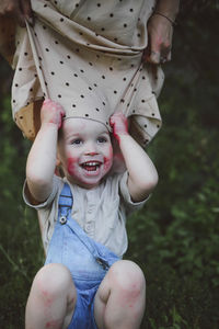
POLYGON ((43 252, 36 214, 22 201, 28 143, 11 120, 7 94, 0 107, 0 327, 14 329, 24 328, 25 302, 43 252))

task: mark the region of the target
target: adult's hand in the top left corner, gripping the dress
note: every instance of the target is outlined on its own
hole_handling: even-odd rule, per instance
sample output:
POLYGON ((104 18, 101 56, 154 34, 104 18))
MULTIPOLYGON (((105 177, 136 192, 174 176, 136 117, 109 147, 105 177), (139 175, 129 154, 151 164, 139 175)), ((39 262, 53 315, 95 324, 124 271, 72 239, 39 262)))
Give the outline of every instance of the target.
POLYGON ((31 0, 1 0, 0 16, 12 18, 22 27, 25 27, 25 20, 33 25, 31 0))

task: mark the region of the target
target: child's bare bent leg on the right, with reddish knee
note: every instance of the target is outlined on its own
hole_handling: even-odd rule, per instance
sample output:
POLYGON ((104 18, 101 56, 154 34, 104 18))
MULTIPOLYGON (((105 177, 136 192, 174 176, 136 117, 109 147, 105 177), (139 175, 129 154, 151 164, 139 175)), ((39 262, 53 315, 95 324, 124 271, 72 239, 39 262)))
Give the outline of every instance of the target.
POLYGON ((146 281, 140 268, 130 261, 112 265, 94 302, 100 329, 137 329, 145 311, 146 281))

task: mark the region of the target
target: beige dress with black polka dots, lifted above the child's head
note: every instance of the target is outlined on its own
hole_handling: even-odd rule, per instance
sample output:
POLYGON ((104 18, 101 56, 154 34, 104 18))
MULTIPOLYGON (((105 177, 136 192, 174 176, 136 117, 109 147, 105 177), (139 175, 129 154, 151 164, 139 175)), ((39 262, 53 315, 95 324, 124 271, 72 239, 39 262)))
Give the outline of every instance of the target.
POLYGON ((32 1, 34 27, 18 29, 12 86, 13 117, 24 135, 37 132, 44 98, 66 116, 130 117, 132 136, 146 146, 161 126, 157 97, 162 70, 142 63, 147 21, 154 0, 32 1))

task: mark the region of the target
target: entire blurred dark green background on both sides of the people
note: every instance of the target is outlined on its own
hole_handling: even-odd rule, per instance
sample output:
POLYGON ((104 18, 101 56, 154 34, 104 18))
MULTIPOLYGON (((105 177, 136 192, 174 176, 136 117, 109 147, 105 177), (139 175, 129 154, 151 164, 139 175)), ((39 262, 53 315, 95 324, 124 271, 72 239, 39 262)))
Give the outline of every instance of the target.
MULTIPOLYGON (((181 1, 159 98, 163 127, 148 147, 160 181, 128 219, 147 277, 142 329, 219 328, 219 1, 181 1)), ((13 72, 0 58, 0 328, 24 328, 44 262, 35 212, 22 200, 31 143, 12 122, 13 72)))

